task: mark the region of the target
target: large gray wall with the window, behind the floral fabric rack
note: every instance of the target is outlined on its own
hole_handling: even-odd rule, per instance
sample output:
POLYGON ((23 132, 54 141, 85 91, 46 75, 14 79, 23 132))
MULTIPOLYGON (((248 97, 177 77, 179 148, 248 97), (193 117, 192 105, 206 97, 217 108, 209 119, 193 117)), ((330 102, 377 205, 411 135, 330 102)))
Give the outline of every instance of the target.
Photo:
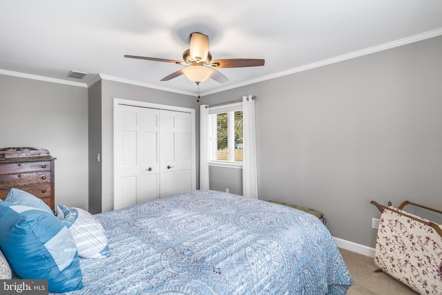
POLYGON ((442 209, 441 53, 436 37, 202 102, 256 95, 259 198, 324 211, 333 236, 374 247, 370 200, 442 209))

